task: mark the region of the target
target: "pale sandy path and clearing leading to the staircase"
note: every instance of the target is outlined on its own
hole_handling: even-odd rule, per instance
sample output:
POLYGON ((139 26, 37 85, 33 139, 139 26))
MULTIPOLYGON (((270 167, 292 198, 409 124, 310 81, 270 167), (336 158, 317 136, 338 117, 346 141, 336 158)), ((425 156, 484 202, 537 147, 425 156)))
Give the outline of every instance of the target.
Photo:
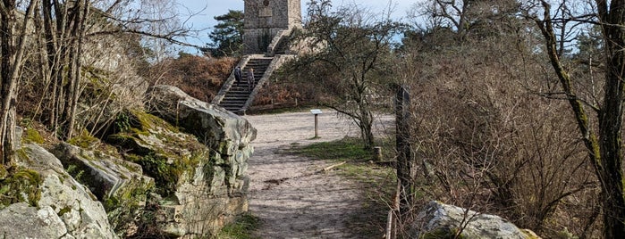
MULTIPOLYGON (((255 152, 249 160, 249 210, 262 221, 260 238, 360 238, 347 223, 358 213, 358 186, 328 164, 281 153, 292 144, 334 141, 359 136, 349 119, 324 111, 318 116, 319 138, 309 111, 245 116, 257 128, 255 152)), ((386 121, 390 119, 386 118, 386 121)), ((384 124, 386 125, 386 124, 384 124)), ((371 238, 380 238, 380 235, 371 238)))

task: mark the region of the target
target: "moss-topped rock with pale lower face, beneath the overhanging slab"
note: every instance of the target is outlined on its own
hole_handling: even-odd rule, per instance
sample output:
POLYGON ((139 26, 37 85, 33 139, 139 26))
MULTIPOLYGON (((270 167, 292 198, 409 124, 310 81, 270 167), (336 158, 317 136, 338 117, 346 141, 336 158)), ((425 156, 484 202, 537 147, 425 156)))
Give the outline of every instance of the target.
POLYGON ((154 218, 160 235, 211 235, 248 209, 245 169, 251 152, 237 149, 232 157, 216 152, 145 112, 129 111, 122 118, 128 123, 118 122, 125 127, 108 141, 155 178, 157 194, 148 208, 156 210, 145 215, 154 218))

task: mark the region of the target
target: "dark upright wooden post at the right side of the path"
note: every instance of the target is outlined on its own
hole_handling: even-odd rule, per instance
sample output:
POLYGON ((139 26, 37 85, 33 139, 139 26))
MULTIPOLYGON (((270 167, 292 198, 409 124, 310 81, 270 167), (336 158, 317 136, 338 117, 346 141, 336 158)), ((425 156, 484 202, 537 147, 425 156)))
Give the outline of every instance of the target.
POLYGON ((400 216, 404 218, 414 200, 412 177, 412 152, 410 147, 410 94, 406 87, 398 86, 395 98, 395 129, 397 148, 397 180, 399 181, 400 216))

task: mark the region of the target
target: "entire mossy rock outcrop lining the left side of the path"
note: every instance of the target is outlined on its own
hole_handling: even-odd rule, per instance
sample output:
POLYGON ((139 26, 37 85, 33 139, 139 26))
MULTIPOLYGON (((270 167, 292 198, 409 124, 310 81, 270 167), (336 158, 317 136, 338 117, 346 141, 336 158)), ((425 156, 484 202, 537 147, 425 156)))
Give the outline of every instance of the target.
POLYGON ((58 144, 54 155, 21 144, 20 171, 0 189, 0 235, 209 237, 247 211, 256 129, 175 87, 158 88, 150 105, 169 122, 124 112, 106 136, 119 151, 93 137, 58 144))

